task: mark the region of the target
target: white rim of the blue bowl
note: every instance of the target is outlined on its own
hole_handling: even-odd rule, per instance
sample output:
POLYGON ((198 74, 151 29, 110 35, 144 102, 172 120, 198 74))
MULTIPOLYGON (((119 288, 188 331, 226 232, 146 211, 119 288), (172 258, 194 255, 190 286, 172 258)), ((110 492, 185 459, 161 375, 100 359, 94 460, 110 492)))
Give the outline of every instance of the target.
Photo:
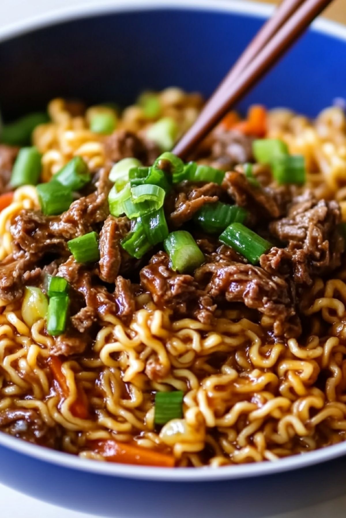
MULTIPOLYGON (((162 2, 162 0, 147 0, 145 3, 142 3, 141 0, 119 0, 117 3, 115 3, 115 0, 101 0, 97 5, 96 3, 86 3, 63 9, 54 9, 43 15, 0 27, 0 44, 2 41, 32 32, 38 28, 56 25, 78 18, 88 18, 107 13, 167 8, 192 9, 196 11, 209 10, 213 12, 239 13, 250 17, 267 18, 273 12, 274 6, 250 0, 213 0, 212 3, 210 0, 165 0, 164 2, 162 2)), ((346 27, 339 23, 319 18, 314 21, 312 28, 314 31, 346 41, 346 27)), ((346 441, 344 441, 321 450, 286 457, 275 462, 240 464, 219 468, 167 469, 81 459, 74 455, 25 442, 1 432, 0 445, 39 461, 77 471, 128 479, 168 482, 207 482, 266 476, 301 469, 346 455, 346 441)))

